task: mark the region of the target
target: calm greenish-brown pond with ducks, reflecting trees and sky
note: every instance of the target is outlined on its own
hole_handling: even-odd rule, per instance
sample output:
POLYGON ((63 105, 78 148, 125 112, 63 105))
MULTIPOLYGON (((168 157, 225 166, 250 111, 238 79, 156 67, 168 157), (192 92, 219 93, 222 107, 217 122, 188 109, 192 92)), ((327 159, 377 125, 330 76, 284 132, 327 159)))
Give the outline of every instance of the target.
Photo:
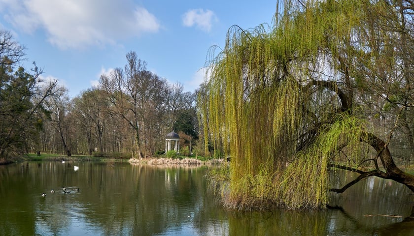
POLYGON ((414 236, 408 217, 414 196, 393 181, 370 177, 356 184, 333 200, 341 209, 235 212, 223 209, 207 189, 209 168, 0 166, 0 235, 414 236), (64 186, 71 192, 64 193, 64 186))

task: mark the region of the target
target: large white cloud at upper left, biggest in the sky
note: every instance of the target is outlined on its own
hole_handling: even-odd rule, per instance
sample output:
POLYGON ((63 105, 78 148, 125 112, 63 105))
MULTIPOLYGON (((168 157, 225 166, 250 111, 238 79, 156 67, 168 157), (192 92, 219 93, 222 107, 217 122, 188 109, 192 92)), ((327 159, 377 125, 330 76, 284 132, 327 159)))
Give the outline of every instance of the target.
POLYGON ((114 44, 157 32, 156 17, 132 0, 0 0, 4 18, 27 33, 44 29, 62 49, 114 44))

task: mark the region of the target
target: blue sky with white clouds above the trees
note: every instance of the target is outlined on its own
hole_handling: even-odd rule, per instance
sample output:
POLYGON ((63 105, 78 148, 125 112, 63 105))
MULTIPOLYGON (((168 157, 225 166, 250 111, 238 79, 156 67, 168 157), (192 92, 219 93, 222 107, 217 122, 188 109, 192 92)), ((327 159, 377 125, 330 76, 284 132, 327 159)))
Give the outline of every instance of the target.
POLYGON ((123 68, 134 51, 147 69, 193 92, 211 46, 228 29, 271 24, 276 0, 0 0, 0 29, 26 47, 28 70, 43 69, 73 98, 123 68))

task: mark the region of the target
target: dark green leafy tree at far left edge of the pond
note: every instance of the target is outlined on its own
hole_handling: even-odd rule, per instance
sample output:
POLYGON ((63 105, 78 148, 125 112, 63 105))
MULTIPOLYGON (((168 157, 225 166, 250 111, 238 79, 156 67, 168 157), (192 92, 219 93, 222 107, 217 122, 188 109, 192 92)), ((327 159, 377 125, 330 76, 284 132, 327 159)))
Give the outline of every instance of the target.
POLYGON ((35 63, 31 72, 20 62, 25 48, 10 32, 0 30, 0 158, 27 152, 43 125, 44 101, 58 90, 56 81, 44 82, 35 63))

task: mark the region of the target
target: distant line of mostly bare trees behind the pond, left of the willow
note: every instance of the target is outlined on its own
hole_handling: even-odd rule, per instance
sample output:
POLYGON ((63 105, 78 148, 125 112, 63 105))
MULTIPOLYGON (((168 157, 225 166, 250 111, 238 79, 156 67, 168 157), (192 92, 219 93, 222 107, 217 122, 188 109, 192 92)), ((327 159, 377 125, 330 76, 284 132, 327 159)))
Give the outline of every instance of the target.
POLYGON ((126 55, 124 68, 70 99, 56 80, 42 80, 35 63, 31 71, 19 66, 25 48, 10 32, 0 31, 0 43, 0 158, 37 151, 147 157, 165 151, 172 131, 180 134, 184 154, 204 155, 198 91, 185 92, 150 72, 135 52, 126 55))

